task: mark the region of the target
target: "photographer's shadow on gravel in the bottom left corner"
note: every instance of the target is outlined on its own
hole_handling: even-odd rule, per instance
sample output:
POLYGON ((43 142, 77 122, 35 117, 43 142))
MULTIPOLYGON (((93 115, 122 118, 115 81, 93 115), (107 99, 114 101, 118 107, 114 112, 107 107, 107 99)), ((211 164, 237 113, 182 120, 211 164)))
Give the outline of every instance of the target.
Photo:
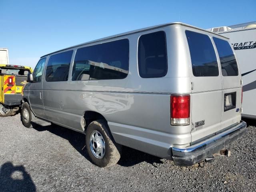
POLYGON ((11 162, 6 162, 0 169, 0 191, 35 192, 36 186, 24 166, 13 166, 11 162))

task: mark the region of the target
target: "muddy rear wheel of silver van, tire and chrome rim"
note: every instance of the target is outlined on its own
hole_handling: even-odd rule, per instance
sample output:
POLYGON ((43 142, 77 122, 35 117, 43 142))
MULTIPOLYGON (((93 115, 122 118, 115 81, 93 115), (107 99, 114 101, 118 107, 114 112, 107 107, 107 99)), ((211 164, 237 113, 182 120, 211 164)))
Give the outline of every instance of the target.
POLYGON ((86 148, 92 163, 109 167, 118 162, 122 146, 114 141, 106 120, 96 120, 86 130, 86 148))

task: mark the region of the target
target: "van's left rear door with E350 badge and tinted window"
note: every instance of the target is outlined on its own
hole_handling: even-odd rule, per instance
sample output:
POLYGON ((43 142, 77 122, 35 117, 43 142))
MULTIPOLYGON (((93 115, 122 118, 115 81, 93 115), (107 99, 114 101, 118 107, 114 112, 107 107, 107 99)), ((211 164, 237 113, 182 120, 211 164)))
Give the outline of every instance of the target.
POLYGON ((191 136, 194 142, 221 127, 222 77, 211 38, 196 31, 185 33, 192 64, 191 136))

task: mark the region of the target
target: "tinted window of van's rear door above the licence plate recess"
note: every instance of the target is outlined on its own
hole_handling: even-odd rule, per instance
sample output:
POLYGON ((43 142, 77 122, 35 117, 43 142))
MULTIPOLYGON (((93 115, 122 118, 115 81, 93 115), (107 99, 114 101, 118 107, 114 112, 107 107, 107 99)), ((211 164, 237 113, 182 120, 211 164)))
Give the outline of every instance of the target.
POLYGON ((221 64, 223 76, 238 76, 236 58, 230 44, 222 39, 213 37, 221 64))

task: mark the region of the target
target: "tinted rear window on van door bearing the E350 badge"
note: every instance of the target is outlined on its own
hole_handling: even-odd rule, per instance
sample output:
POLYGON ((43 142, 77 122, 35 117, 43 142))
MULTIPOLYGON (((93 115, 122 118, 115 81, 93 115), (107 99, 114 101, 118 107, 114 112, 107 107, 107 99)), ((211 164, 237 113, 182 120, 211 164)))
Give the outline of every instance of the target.
POLYGON ((218 76, 218 62, 208 35, 186 30, 193 75, 218 76))

